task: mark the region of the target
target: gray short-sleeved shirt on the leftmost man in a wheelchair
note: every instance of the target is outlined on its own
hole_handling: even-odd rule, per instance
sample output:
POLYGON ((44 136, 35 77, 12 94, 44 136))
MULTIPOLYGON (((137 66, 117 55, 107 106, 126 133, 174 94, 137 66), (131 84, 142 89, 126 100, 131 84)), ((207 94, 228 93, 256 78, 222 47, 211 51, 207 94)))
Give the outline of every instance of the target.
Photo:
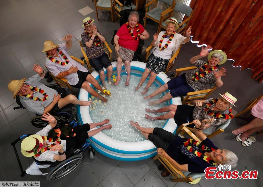
MULTIPOLYGON (((35 74, 32 77, 25 80, 26 84, 29 84, 30 86, 34 86, 37 88, 41 88, 41 90, 44 90, 44 93, 47 93, 48 99, 43 101, 34 101, 33 99, 27 98, 25 96, 20 96, 20 102, 21 104, 29 111, 42 114, 44 113, 44 108, 48 106, 54 99, 54 94, 58 94, 58 92, 52 88, 47 87, 46 85, 39 83, 41 81, 41 77, 39 74, 35 74)), ((39 92, 33 93, 34 97, 42 98, 44 97, 43 94, 39 92)))

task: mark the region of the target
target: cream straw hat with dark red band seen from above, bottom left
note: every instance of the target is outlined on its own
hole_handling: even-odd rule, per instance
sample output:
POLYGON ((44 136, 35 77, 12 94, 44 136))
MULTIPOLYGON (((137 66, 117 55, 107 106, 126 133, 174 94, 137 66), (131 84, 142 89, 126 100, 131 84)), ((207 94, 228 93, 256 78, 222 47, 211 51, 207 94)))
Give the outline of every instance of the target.
POLYGON ((26 157, 34 156, 34 148, 39 145, 39 143, 43 143, 43 139, 40 135, 33 134, 29 137, 26 137, 21 142, 21 153, 26 157), (38 141, 38 142, 37 142, 38 141))

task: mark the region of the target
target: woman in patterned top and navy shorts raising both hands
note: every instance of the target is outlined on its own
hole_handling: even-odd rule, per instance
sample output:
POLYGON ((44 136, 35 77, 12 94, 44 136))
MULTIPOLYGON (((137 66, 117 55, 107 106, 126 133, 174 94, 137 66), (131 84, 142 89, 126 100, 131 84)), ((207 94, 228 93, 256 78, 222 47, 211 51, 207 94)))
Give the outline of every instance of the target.
POLYGON ((211 46, 202 47, 200 54, 190 59, 191 64, 196 66, 197 69, 173 78, 147 97, 144 97, 144 99, 149 99, 166 90, 170 90, 164 97, 150 102, 149 105, 160 104, 173 97, 186 95, 188 92, 204 90, 209 83, 214 83, 217 87, 222 86, 221 77, 226 75, 226 69, 222 67, 219 70, 219 64, 224 64, 227 56, 222 50, 214 50, 209 53, 208 50, 211 48, 211 46), (208 56, 208 61, 199 60, 206 56, 208 56))

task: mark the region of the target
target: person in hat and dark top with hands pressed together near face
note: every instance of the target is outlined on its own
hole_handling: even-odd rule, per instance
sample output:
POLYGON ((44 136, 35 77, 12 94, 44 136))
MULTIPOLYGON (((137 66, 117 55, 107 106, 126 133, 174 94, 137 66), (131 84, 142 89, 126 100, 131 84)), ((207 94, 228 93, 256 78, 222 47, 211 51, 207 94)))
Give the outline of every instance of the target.
POLYGON ((108 55, 103 51, 102 48, 102 43, 105 41, 105 38, 94 25, 94 19, 87 17, 82 22, 82 27, 85 27, 85 32, 81 34, 81 38, 86 45, 86 54, 88 57, 90 57, 89 63, 96 71, 98 71, 102 85, 107 90, 103 67, 107 70, 109 84, 111 84, 110 79, 113 67, 108 55))

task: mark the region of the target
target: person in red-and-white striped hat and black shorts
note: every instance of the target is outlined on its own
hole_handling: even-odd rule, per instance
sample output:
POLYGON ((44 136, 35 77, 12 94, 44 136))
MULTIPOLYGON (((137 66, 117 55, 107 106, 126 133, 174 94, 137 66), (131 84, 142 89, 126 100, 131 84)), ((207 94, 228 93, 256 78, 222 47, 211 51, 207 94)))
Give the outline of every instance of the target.
MULTIPOLYGON (((201 121, 200 129, 207 129, 211 126, 217 127, 232 119, 232 106, 237 99, 230 93, 226 92, 221 97, 206 100, 194 100, 195 106, 171 104, 158 110, 146 109, 150 113, 168 112, 163 116, 153 117, 145 114, 149 120, 166 120, 174 118, 178 125, 192 122, 193 120, 201 121)), ((234 105, 235 106, 235 105, 234 105)), ((194 127, 193 124, 189 125, 194 127)))

